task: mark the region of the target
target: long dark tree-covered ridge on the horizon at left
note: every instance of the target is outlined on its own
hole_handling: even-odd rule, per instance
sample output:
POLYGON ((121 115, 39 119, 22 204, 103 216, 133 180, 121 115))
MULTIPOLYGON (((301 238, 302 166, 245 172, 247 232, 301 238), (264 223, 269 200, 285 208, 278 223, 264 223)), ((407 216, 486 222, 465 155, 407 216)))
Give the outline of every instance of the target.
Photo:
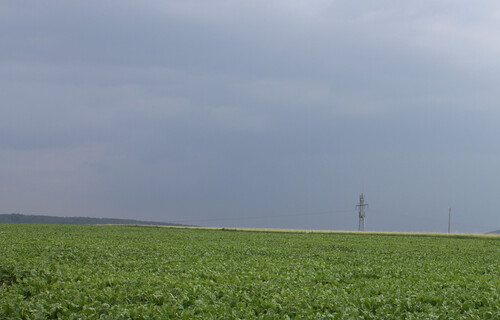
POLYGON ((184 226, 176 223, 140 221, 132 219, 53 217, 24 215, 19 213, 0 214, 0 223, 40 223, 40 224, 140 224, 155 226, 184 226))

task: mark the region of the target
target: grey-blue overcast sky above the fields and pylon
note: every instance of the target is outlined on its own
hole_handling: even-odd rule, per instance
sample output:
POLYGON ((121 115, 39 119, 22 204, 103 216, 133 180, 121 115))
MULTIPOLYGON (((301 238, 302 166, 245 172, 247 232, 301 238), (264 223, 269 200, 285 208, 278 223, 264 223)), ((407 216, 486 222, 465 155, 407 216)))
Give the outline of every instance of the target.
POLYGON ((0 213, 500 229, 498 1, 0 3, 0 213))

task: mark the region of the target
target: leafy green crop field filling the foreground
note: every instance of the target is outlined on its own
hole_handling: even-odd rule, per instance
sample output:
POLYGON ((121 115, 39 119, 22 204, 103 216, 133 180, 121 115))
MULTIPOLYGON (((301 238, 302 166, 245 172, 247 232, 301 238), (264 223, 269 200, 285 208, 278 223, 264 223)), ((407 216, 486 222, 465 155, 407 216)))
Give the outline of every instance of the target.
POLYGON ((0 224, 0 319, 500 319, 500 238, 0 224))

